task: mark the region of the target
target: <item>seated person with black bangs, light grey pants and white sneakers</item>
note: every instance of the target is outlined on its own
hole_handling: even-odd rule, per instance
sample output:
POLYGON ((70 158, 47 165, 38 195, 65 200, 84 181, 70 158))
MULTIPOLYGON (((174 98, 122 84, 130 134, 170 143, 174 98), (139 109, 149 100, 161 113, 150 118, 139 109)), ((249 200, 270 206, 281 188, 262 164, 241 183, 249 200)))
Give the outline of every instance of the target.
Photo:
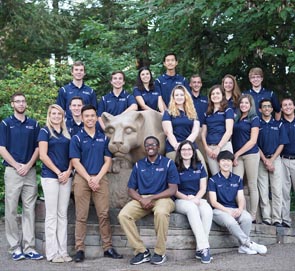
POLYGON ((213 210, 213 221, 226 227, 238 239, 238 252, 243 254, 266 254, 264 245, 250 240, 252 217, 244 209, 243 180, 231 172, 234 155, 222 151, 217 156, 220 171, 208 182, 209 199, 213 210))

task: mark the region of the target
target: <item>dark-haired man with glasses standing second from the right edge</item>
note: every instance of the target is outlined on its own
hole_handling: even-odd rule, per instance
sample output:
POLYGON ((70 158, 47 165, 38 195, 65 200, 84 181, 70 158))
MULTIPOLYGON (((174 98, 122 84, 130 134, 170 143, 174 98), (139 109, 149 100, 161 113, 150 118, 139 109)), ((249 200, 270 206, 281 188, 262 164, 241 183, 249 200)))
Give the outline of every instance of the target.
POLYGON ((261 112, 257 144, 260 153, 258 168, 258 191, 262 222, 266 225, 281 227, 282 184, 285 182, 280 154, 289 138, 282 121, 272 117, 273 106, 270 99, 259 103, 261 112), (269 200, 271 187, 272 200, 269 200))

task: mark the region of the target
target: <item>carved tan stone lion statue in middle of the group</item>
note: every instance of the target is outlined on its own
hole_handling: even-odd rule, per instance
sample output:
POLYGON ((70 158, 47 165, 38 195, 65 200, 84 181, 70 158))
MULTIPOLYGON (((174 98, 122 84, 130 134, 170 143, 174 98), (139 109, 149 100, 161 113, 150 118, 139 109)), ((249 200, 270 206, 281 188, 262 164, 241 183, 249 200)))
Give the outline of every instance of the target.
POLYGON ((165 134, 162 129, 162 115, 154 110, 129 111, 118 116, 104 112, 102 120, 105 134, 110 138, 109 150, 113 153, 113 172, 120 168, 131 168, 145 157, 143 142, 147 136, 160 141, 161 154, 165 151, 165 134))

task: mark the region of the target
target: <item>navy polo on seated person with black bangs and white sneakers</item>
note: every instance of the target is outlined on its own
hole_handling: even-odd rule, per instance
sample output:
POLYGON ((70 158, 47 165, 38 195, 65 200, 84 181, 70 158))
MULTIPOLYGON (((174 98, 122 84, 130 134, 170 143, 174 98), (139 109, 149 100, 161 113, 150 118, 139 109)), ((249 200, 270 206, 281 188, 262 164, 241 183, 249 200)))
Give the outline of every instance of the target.
POLYGON ((217 202, 228 208, 238 208, 236 197, 243 190, 243 180, 233 173, 225 178, 221 172, 212 176, 208 182, 208 190, 216 193, 217 202))

